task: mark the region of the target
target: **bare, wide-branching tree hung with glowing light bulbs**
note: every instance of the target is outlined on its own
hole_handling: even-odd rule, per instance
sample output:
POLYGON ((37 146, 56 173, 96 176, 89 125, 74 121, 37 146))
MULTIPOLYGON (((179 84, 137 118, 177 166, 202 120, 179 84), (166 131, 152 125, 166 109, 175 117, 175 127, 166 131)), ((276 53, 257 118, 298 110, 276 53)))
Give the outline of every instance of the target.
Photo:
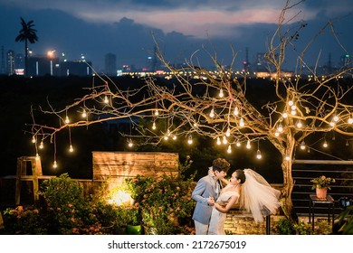
MULTIPOLYGON (((180 139, 181 136, 192 142, 193 137, 198 135, 223 142, 230 152, 234 145, 240 143, 252 145, 260 140, 268 140, 281 154, 283 211, 291 217, 291 192, 294 185, 291 164, 295 149, 299 145, 305 146, 305 138, 318 132, 335 131, 353 136, 353 105, 345 102, 352 87, 341 87, 338 81, 342 75, 351 71, 350 68, 325 78, 311 70, 312 77, 301 78, 301 66, 306 64, 304 53, 309 49, 308 45, 304 52, 298 54, 296 75, 288 76, 282 71, 287 50, 291 49, 301 29, 305 27, 304 23, 300 23, 295 29, 282 31, 288 22, 285 14, 292 6, 291 1, 286 1, 278 29, 270 39, 266 53, 266 59, 271 62, 269 71, 275 93, 273 101, 259 105, 249 100, 246 73, 240 78, 242 73, 233 70, 236 52, 227 70, 219 64, 214 54, 209 54, 217 71, 197 67, 194 57, 187 61, 188 68, 177 70, 169 66, 162 52, 158 52, 160 61, 169 68, 175 80, 173 85, 158 85, 150 77, 143 87, 123 89, 121 85, 99 77, 104 84, 93 85, 87 95, 72 105, 59 110, 43 110, 46 114, 59 117, 60 124, 45 126, 33 122, 33 138, 51 137, 54 140, 55 134, 67 127, 70 129, 130 118, 137 131, 122 134, 131 142, 139 138, 139 145, 158 145, 164 139, 180 139), (78 111, 84 113, 83 119, 67 118, 78 111), (143 124, 138 124, 135 118, 140 118, 143 124), (167 122, 165 129, 154 129, 158 120, 167 122)), ((323 27, 328 28, 332 28, 330 22, 323 27)))

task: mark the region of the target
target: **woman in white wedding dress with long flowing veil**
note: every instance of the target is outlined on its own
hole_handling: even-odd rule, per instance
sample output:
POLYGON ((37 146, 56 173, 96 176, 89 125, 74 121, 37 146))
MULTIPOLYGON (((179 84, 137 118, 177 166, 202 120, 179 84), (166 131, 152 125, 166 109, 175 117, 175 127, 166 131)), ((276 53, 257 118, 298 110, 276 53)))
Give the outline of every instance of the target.
POLYGON ((251 211, 256 222, 262 221, 262 211, 264 209, 274 214, 281 206, 281 202, 278 201, 280 193, 280 191, 272 188, 259 173, 255 173, 251 169, 236 170, 232 173, 230 183, 222 189, 215 202, 208 234, 225 234, 226 212, 235 203, 240 203, 246 211, 251 211))

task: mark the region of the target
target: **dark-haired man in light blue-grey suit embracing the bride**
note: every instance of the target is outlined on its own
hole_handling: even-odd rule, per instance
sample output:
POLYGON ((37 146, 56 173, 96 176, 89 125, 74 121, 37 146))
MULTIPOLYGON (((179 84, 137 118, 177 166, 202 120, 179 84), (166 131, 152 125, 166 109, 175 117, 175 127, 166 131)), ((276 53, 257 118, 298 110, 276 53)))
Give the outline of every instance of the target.
POLYGON ((196 184, 191 195, 193 200, 197 201, 193 214, 196 235, 207 234, 213 205, 222 188, 220 181, 224 180, 229 168, 230 164, 224 158, 217 158, 212 163, 208 174, 196 184))

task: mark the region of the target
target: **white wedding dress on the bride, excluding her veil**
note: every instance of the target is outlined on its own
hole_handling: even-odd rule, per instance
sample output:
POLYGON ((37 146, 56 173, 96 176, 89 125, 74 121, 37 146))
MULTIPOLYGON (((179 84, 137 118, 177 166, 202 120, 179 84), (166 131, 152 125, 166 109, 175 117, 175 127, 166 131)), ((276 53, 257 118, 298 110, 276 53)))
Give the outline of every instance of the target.
MULTIPOLYGON (((228 201, 232 196, 238 196, 239 193, 234 191, 222 192, 217 201, 228 201)), ((208 227, 209 235, 225 235, 224 232, 224 220, 226 218, 226 213, 217 211, 215 207, 212 210, 210 225, 208 227)))

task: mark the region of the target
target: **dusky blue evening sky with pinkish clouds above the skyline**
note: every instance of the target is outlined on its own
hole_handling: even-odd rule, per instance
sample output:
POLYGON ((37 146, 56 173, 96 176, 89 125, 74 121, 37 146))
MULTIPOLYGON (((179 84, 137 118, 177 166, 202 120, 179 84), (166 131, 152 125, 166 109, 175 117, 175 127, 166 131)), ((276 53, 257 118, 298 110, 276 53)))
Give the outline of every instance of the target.
MULTIPOLYGON (((297 1, 293 1, 294 4, 297 1)), ((154 42, 171 63, 198 59, 205 67, 211 66, 204 50, 217 55, 217 60, 231 63, 232 49, 238 53, 235 67, 242 66, 248 49, 249 61, 257 52, 265 52, 267 40, 278 23, 284 0, 0 0, 0 46, 5 52, 24 53, 24 43, 14 42, 21 27, 20 17, 33 20, 39 41, 30 44, 37 55, 48 50, 65 52, 69 60, 78 60, 83 53, 96 70, 104 69, 104 55, 117 55, 118 67, 134 64, 146 66, 153 54, 154 42), (198 51, 199 50, 199 51, 198 51)), ((300 33, 294 47, 298 52, 312 36, 331 20, 339 47, 330 29, 313 43, 305 60, 313 65, 320 57, 326 64, 339 63, 341 55, 353 51, 353 5, 351 0, 307 0, 291 9, 288 27, 304 20, 308 25, 300 33), (292 14, 299 13, 294 19, 292 14)), ((286 67, 295 64, 295 53, 290 53, 286 67)))

